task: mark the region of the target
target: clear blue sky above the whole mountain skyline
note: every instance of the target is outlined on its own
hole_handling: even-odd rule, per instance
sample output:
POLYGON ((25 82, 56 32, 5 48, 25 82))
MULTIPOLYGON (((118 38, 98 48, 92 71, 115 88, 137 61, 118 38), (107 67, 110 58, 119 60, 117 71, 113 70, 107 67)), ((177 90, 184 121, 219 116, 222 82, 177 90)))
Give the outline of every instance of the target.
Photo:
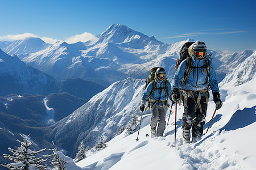
POLYGON ((255 11, 253 0, 0 0, 0 41, 17 35, 68 40, 99 35, 117 23, 167 43, 191 38, 205 41, 209 49, 241 52, 256 49, 255 11))

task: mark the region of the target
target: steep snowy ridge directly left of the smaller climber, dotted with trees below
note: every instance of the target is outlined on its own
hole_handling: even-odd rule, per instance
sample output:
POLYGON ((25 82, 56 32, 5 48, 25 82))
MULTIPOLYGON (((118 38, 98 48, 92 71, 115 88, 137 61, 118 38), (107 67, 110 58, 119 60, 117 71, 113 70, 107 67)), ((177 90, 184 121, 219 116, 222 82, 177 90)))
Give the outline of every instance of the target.
POLYGON ((131 114, 138 112, 143 85, 142 79, 134 78, 113 83, 68 117, 57 122, 48 140, 55 141, 68 155, 75 156, 82 140, 93 147, 101 135, 107 140, 112 139, 121 126, 130 121, 131 114))

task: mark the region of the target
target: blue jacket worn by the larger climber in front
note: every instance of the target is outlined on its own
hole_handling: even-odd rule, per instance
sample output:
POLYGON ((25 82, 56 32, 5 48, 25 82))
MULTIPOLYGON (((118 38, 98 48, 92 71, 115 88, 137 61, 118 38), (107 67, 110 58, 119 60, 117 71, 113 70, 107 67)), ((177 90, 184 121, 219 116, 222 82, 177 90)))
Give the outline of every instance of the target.
MULTIPOLYGON (((183 62, 180 63, 179 68, 177 69, 174 79, 172 81, 172 88, 176 87, 181 90, 204 90, 208 87, 208 80, 207 80, 207 73, 204 68, 192 68, 188 78, 185 80, 183 87, 181 86, 181 78, 184 75, 185 66, 186 66, 187 59, 184 59, 183 62), (202 72, 203 69, 203 72, 202 72), (202 74, 203 73, 203 74, 202 74)), ((201 67, 204 66, 204 59, 195 59, 192 57, 192 65, 194 67, 201 67)), ((213 69, 212 61, 209 60, 210 71, 209 71, 209 84, 212 92, 219 92, 218 90, 218 82, 216 78, 215 70, 213 69)))

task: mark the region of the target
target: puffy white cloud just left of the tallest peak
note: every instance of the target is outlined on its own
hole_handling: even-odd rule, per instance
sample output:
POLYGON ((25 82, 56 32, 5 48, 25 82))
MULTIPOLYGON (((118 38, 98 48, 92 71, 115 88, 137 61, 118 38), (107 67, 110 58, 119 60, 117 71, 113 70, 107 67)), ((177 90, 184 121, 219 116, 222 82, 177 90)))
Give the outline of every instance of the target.
POLYGON ((79 35, 67 37, 64 41, 67 42, 68 44, 76 43, 76 42, 86 42, 86 41, 96 41, 97 37, 94 36, 92 33, 89 32, 84 32, 79 35))

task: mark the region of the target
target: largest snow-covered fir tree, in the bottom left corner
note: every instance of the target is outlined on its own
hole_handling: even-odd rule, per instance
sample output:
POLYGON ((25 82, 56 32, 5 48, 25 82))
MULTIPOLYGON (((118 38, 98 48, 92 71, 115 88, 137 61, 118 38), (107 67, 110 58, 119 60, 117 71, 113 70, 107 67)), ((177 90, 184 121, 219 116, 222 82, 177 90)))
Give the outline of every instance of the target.
POLYGON ((46 162, 48 159, 42 159, 42 156, 39 158, 35 157, 35 154, 38 154, 46 148, 36 151, 36 150, 31 150, 29 147, 35 142, 35 141, 29 141, 28 137, 30 135, 27 135, 27 137, 24 137, 23 134, 20 134, 23 138, 24 142, 19 141, 16 139, 17 142, 20 143, 20 146, 16 149, 8 148, 8 150, 13 154, 13 155, 7 155, 3 154, 3 157, 5 159, 10 160, 11 162, 14 163, 9 163, 9 164, 0 164, 2 167, 7 168, 7 169, 24 169, 24 170, 29 170, 29 169, 48 169, 47 164, 43 164, 46 162))

